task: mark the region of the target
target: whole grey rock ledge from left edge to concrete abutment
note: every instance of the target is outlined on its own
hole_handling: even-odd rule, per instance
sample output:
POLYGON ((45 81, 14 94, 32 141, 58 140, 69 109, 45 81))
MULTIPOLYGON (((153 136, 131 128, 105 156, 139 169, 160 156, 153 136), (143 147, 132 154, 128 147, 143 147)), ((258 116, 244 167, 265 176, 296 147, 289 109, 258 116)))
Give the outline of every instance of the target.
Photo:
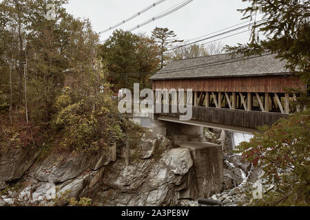
POLYGON ((128 166, 122 148, 118 159, 110 149, 53 153, 37 162, 38 151, 12 150, 1 155, 0 186, 6 190, 0 191, 0 206, 50 206, 81 197, 101 206, 174 206, 197 199, 189 149, 172 148, 167 138, 152 134, 136 148, 138 157, 128 166))

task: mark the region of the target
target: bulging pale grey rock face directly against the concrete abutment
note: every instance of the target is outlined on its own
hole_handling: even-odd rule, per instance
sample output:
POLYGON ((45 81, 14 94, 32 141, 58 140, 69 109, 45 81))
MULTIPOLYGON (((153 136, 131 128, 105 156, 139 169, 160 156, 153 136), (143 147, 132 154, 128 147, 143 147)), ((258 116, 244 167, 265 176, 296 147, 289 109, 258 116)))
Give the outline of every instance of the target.
POLYGON ((107 167, 99 192, 105 206, 176 206, 196 197, 193 161, 186 148, 165 151, 158 160, 107 167))

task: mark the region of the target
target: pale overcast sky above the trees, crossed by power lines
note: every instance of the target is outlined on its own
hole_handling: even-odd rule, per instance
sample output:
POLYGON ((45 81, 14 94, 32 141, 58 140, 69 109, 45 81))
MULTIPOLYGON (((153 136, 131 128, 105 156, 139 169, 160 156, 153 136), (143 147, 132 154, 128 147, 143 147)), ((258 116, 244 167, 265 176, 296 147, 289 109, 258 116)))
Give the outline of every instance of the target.
MULTIPOLYGON (((156 1, 158 0, 70 0, 70 3, 65 8, 74 17, 89 18, 94 30, 101 32, 131 17, 156 1)), ((130 30, 183 1, 166 0, 119 28, 130 30)), ((153 21, 133 32, 143 32, 150 35, 157 26, 174 30, 179 39, 195 39, 198 36, 241 23, 242 14, 237 12, 237 9, 246 8, 248 4, 248 2, 242 2, 241 0, 194 0, 167 17, 153 21)), ((112 34, 112 31, 101 34, 101 40, 104 41, 110 34, 112 34)), ((220 43, 223 45, 236 45, 236 43, 246 43, 248 40, 249 32, 245 32, 220 40, 220 43)))

